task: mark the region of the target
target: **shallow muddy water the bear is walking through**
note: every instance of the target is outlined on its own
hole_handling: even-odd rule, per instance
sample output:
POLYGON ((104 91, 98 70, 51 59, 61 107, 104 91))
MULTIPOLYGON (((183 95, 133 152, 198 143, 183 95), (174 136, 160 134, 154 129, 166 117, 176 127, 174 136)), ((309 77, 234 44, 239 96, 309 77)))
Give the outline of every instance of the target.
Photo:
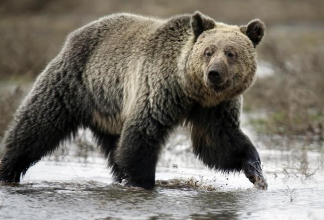
POLYGON ((178 131, 161 155, 152 191, 114 184, 96 151, 71 144, 33 166, 21 184, 0 186, 0 219, 322 219, 324 147, 253 137, 267 191, 253 189, 242 174, 208 170, 178 131))

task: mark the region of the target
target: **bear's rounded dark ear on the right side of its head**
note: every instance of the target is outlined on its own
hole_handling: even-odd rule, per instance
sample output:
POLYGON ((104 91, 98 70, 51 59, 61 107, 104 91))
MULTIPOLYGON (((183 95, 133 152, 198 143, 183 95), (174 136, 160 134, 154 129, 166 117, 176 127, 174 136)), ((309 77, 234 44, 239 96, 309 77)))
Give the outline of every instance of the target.
POLYGON ((239 30, 250 38, 254 48, 256 48, 266 33, 266 25, 260 19, 255 19, 249 22, 248 25, 240 26, 239 30))

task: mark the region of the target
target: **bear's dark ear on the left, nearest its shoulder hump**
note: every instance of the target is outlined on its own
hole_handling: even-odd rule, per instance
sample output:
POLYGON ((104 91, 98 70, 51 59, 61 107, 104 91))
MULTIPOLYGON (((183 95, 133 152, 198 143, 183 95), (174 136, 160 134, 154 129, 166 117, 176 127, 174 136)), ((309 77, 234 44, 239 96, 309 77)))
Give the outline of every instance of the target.
POLYGON ((215 28, 215 21, 196 11, 190 19, 190 25, 195 35, 195 41, 204 31, 215 28))

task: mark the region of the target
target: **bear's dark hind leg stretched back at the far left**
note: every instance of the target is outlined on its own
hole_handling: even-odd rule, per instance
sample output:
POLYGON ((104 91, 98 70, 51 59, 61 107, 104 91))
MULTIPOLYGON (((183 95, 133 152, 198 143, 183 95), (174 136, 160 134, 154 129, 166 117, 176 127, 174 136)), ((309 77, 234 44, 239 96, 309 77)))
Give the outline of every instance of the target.
POLYGON ((77 123, 56 90, 34 90, 23 102, 4 138, 0 182, 19 182, 28 168, 69 139, 77 123))

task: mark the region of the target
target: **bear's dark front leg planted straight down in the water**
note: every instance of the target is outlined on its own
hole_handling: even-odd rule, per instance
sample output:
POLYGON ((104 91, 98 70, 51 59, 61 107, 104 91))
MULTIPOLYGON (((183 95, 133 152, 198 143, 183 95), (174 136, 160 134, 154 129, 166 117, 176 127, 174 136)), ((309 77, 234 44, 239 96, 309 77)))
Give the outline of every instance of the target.
POLYGON ((115 161, 125 174, 126 185, 152 189, 160 147, 165 143, 170 127, 161 125, 142 109, 125 122, 115 161))

